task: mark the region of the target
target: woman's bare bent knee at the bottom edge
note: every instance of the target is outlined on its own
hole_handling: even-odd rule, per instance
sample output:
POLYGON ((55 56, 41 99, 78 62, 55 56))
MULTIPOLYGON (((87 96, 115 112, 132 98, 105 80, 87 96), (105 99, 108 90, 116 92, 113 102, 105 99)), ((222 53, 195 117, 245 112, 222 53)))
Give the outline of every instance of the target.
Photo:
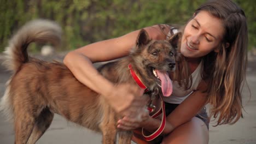
POLYGON ((197 117, 174 129, 172 133, 165 136, 162 144, 206 144, 209 141, 209 131, 206 124, 197 117))

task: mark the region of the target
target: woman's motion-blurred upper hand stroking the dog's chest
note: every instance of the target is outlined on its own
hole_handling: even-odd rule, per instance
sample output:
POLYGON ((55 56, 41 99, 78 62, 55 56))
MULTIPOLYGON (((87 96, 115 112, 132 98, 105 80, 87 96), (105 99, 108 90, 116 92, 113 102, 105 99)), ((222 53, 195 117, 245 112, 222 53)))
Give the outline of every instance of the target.
POLYGON ((108 101, 115 111, 124 116, 125 120, 133 124, 141 123, 149 116, 146 109, 148 96, 143 95, 143 92, 138 86, 119 84, 114 86, 108 101))

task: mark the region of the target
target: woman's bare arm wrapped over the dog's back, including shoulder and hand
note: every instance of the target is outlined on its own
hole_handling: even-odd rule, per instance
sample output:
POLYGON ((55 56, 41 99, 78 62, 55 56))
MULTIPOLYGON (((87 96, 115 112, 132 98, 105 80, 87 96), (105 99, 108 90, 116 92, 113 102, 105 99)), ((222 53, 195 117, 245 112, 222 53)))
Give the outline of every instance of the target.
MULTIPOLYGON (((158 26, 144 29, 152 39, 165 39, 165 35, 158 26)), ((139 30, 119 38, 86 45, 69 52, 63 60, 80 82, 103 95, 117 112, 124 113, 126 116, 136 116, 143 112, 139 111, 143 108, 144 101, 142 97, 138 97, 142 95, 141 89, 137 86, 115 86, 98 73, 92 63, 129 55, 131 48, 135 45, 138 32, 139 30)))

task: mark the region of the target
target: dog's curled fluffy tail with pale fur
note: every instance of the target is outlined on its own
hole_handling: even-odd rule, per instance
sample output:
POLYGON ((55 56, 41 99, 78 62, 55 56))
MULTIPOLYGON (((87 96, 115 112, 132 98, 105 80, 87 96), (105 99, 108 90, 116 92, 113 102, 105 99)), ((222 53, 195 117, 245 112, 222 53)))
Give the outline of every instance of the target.
POLYGON ((4 65, 11 71, 17 71, 30 57, 27 47, 32 42, 59 44, 61 41, 61 27, 49 20, 33 20, 26 23, 10 39, 5 48, 4 65))

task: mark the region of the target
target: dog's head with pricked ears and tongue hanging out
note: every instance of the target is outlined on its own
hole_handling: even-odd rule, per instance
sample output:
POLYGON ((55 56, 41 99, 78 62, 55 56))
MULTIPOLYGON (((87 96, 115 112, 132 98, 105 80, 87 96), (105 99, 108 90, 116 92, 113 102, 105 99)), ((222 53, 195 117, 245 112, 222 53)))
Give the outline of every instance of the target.
POLYGON ((181 33, 174 34, 169 40, 152 40, 142 29, 131 52, 133 65, 149 89, 161 87, 162 94, 172 93, 172 82, 168 73, 175 70, 175 59, 181 33))

